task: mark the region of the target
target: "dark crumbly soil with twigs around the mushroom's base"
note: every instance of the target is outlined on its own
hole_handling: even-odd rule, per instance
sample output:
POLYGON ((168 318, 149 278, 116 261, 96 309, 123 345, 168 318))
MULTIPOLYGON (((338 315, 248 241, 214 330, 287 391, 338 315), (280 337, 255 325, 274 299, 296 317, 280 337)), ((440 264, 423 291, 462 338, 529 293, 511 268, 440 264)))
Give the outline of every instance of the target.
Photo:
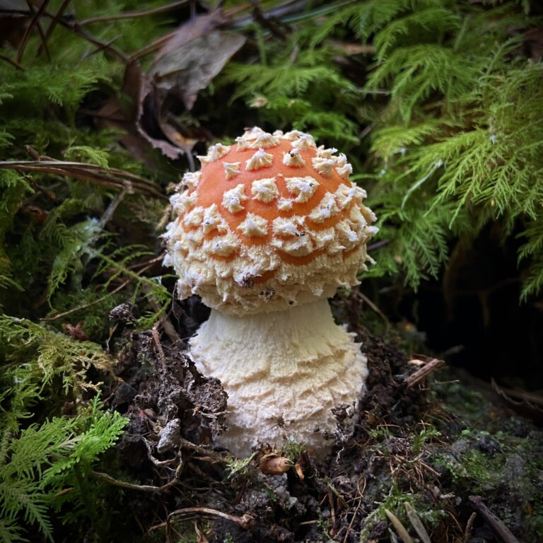
MULTIPOLYGON (((195 298, 177 309, 181 338, 208 314, 195 298)), ((336 409, 332 455, 316 462, 288 444, 277 454, 291 469, 264 474, 266 445, 245 461, 213 445, 221 384, 197 371, 183 341, 135 332, 131 315, 127 305, 111 315, 124 383, 110 402, 130 419, 111 455, 118 479, 158 488, 122 491, 122 537, 112 540, 388 542, 402 527, 433 543, 543 540, 543 433, 452 370, 409 387, 419 367, 357 329, 368 392, 354 416, 336 409)))

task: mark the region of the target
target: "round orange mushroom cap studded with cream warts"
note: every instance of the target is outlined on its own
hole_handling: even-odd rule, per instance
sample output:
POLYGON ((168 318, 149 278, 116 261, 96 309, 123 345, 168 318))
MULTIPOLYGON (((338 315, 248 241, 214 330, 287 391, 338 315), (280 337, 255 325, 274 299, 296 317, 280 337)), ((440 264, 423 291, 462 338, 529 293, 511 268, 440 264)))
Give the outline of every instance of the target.
POLYGON ((165 234, 181 298, 226 313, 278 310, 356 284, 377 231, 351 165, 312 136, 247 129, 199 157, 165 234))

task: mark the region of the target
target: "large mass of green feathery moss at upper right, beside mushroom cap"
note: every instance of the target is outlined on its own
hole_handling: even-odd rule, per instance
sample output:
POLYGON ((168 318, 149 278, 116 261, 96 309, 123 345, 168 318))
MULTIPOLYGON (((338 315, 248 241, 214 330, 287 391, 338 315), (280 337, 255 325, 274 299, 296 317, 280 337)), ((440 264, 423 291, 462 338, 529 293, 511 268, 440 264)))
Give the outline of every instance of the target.
POLYGON ((222 81, 276 126, 343 141, 355 171, 369 152, 358 180, 386 242, 369 276, 401 272, 416 288, 452 243, 492 222, 525 242, 525 300, 543 288, 543 64, 522 52, 522 30, 538 21, 511 3, 336 2, 298 19, 286 42, 260 36, 259 57, 231 63, 222 81), (371 47, 351 57, 367 71, 358 86, 334 62, 334 40, 353 35, 371 47))

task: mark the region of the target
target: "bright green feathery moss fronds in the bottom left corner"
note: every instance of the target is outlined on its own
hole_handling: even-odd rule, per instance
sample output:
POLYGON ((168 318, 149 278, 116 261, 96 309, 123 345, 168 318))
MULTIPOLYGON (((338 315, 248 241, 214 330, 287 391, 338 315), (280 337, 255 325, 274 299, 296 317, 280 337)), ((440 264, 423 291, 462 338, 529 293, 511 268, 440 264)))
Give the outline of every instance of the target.
POLYGON ((55 417, 21 431, 0 462, 0 515, 8 530, 3 537, 27 541, 14 524, 23 518, 26 525, 37 527, 54 541, 49 508, 57 505, 60 493, 66 490, 72 506, 83 501, 84 489, 76 472, 88 469, 110 448, 125 424, 127 419, 118 413, 103 411, 97 397, 85 414, 74 419, 55 417))

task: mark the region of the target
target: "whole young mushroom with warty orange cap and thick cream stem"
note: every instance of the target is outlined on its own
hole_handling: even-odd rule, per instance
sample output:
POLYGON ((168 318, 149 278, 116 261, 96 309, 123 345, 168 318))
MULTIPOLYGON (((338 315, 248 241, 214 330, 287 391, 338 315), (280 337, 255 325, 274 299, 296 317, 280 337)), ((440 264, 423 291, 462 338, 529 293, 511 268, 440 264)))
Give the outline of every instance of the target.
POLYGON ((211 308, 189 347, 228 393, 220 443, 245 456, 288 433, 322 452, 315 428, 334 431, 332 407, 354 404, 368 373, 327 298, 358 284, 375 215, 345 155, 309 134, 255 127, 236 142, 211 146, 183 177, 164 264, 181 299, 199 294, 211 308))

